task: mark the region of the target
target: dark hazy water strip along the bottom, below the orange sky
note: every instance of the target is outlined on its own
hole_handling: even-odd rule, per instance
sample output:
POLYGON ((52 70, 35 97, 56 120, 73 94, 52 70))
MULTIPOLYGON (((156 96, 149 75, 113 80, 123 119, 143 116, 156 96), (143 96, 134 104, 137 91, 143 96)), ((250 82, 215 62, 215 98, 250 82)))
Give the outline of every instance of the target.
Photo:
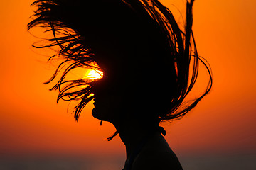
MULTIPOLYGON (((1 170, 121 170, 124 157, 51 157, 1 159, 1 170)), ((184 170, 256 170, 256 154, 179 157, 184 170)))

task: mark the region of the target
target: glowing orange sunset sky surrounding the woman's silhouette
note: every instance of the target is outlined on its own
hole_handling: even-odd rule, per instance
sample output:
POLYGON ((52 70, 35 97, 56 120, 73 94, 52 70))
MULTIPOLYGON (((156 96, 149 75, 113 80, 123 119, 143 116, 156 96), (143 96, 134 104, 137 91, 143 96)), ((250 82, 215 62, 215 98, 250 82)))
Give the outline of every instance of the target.
MULTIPOLYGON (((185 1, 164 4, 183 10, 185 1)), ((92 104, 79 123, 72 107, 43 85, 54 71, 48 52, 26 32, 31 0, 3 1, 0 7, 0 157, 19 154, 124 154, 114 128, 92 118, 92 104)), ((197 0, 193 30, 198 52, 213 69, 213 89, 186 118, 165 124, 176 154, 256 153, 255 0, 197 0)))

